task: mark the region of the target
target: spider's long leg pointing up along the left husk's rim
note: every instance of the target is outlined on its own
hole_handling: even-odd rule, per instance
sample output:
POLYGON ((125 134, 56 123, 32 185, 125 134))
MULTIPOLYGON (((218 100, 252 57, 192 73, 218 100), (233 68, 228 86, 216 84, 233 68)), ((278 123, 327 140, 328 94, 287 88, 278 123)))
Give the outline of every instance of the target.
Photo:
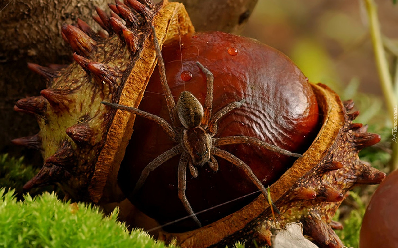
POLYGON ((167 83, 166 79, 166 68, 164 67, 164 60, 162 57, 162 52, 160 49, 158 38, 156 38, 155 27, 152 25, 152 36, 153 36, 153 43, 155 46, 156 57, 158 58, 158 67, 159 67, 159 74, 160 74, 160 83, 162 85, 164 91, 164 98, 166 98, 167 108, 169 110, 170 120, 172 124, 174 124, 175 118, 175 109, 176 109, 176 102, 174 102, 172 92, 170 91, 170 87, 167 83))

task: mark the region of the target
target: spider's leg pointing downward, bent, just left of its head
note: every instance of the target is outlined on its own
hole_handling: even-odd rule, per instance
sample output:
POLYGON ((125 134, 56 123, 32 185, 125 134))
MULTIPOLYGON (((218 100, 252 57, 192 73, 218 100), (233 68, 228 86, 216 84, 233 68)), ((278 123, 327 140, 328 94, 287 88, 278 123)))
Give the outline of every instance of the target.
POLYGON ((189 213, 189 215, 195 220, 195 222, 202 226, 195 213, 192 210, 191 204, 189 204, 187 196, 185 196, 185 188, 187 185, 187 163, 189 159, 189 154, 183 152, 181 158, 179 159, 178 164, 178 198, 181 200, 182 204, 185 207, 185 210, 189 213))

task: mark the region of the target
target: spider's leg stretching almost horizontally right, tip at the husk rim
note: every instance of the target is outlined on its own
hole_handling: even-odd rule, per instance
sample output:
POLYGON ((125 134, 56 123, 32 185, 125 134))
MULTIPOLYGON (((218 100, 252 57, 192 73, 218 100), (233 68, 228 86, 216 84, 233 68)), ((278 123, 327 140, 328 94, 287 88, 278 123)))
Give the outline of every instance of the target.
POLYGON ((289 152, 288 150, 265 143, 259 140, 258 138, 248 137, 248 136, 226 136, 222 138, 213 138, 212 143, 213 143, 212 146, 223 146, 229 144, 242 144, 242 143, 254 144, 256 146, 271 150, 273 152, 278 152, 283 155, 297 157, 297 158, 302 157, 301 154, 289 152))

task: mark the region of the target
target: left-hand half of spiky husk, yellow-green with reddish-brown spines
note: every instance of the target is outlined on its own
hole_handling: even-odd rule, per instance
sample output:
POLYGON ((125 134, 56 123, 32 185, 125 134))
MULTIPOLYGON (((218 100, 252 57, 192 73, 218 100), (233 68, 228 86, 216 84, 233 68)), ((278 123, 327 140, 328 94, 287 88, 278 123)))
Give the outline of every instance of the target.
POLYGON ((94 19, 108 34, 116 35, 95 33, 81 20, 76 26, 63 25, 62 37, 74 50, 75 62, 65 68, 28 65, 47 78, 48 88, 41 96, 19 100, 14 107, 36 115, 40 131, 13 142, 40 150, 45 160, 25 190, 59 183, 76 200, 124 198, 116 175, 135 116, 100 102, 139 105, 156 63, 150 25, 155 26, 160 44, 178 32, 194 29, 178 3, 154 6, 148 1, 127 0, 117 1, 111 9, 117 15, 110 17, 97 8, 94 19), (107 182, 113 183, 105 186, 107 182), (109 192, 106 196, 104 188, 109 192))

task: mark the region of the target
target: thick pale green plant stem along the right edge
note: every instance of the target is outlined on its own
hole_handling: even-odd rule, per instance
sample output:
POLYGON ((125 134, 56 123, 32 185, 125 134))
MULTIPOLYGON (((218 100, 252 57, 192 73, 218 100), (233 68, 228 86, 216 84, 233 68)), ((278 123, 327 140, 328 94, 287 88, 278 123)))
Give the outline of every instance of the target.
MULTIPOLYGON (((392 77, 388 71, 388 62, 383 48, 382 36, 380 33, 380 25, 377 17, 377 6, 374 0, 364 0, 368 19, 369 29, 372 37, 373 49, 375 51, 375 60, 377 64, 378 75, 380 77, 380 84, 383 90, 384 99, 387 105, 388 119, 392 124, 394 119, 394 105, 397 103, 397 96, 394 87, 392 86, 392 77)), ((390 171, 398 167, 398 145, 392 142, 392 154, 390 160, 390 171)))

